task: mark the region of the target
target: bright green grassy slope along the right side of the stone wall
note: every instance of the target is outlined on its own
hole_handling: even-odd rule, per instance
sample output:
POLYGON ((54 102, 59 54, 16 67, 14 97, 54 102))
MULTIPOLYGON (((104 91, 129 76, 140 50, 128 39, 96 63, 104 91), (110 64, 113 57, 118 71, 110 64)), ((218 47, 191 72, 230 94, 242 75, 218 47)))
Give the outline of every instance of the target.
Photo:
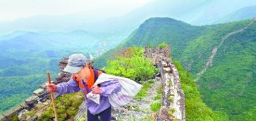
POLYGON ((181 87, 185 92, 186 120, 228 120, 226 114, 213 111, 203 103, 198 87, 190 74, 177 61, 174 61, 174 65, 179 71, 181 87))

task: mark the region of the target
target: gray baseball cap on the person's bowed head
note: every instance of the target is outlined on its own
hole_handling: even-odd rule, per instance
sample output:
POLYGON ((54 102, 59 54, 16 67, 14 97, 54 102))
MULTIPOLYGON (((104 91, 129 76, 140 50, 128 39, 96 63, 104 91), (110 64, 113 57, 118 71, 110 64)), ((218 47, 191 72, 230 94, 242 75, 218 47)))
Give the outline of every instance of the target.
POLYGON ((84 54, 71 54, 69 60, 67 60, 67 66, 63 71, 68 73, 78 73, 87 64, 87 58, 84 54))

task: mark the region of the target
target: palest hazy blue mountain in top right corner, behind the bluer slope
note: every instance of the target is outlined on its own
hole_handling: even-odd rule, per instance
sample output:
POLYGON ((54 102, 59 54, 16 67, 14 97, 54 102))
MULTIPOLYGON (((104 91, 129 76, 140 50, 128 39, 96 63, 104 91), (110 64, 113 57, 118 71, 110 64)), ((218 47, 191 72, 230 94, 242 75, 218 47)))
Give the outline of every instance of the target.
MULTIPOLYGON (((202 1, 201 3, 191 7, 189 11, 181 14, 181 17, 174 17, 177 19, 181 19, 183 22, 187 22, 189 24, 203 26, 203 25, 211 25, 211 24, 220 24, 220 19, 230 15, 230 13, 234 11, 240 11, 245 7, 255 6, 256 1, 247 0, 247 1, 202 1)), ((247 13, 253 13, 253 11, 247 11, 247 13)), ((236 12, 234 12, 236 14, 236 12)), ((240 14, 240 13, 238 13, 240 14)), ((243 17, 242 19, 250 19, 251 17, 243 17)), ((234 22, 234 19, 226 19, 226 22, 234 22)), ((221 22, 222 23, 222 22, 221 22)))

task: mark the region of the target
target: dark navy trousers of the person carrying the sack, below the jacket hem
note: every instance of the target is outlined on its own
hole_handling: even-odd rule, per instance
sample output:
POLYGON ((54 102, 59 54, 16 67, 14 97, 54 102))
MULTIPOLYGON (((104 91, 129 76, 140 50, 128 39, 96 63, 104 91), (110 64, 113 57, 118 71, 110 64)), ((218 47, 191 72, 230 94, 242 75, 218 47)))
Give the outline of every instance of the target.
POLYGON ((111 119, 111 106, 109 108, 106 108, 106 110, 103 110, 100 112, 100 114, 92 115, 89 110, 87 110, 87 119, 88 121, 98 121, 100 116, 100 121, 110 121, 111 119))

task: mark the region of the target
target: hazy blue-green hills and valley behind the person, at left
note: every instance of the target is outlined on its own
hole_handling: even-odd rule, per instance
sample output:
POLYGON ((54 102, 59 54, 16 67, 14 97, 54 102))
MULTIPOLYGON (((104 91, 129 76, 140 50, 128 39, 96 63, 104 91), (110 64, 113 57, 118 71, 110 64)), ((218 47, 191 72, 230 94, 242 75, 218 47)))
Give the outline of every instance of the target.
POLYGON ((58 63, 64 56, 82 52, 89 57, 91 52, 96 57, 117 46, 122 38, 85 30, 18 31, 0 36, 0 114, 24 102, 34 89, 45 83, 46 71, 56 77, 58 63))

